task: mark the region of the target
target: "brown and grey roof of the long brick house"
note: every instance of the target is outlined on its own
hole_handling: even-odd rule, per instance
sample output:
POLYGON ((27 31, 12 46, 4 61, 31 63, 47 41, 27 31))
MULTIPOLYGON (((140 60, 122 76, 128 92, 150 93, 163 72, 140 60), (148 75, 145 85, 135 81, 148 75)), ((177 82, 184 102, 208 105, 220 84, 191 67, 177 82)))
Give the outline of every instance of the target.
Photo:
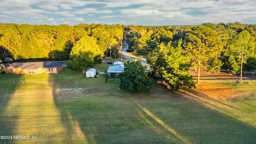
MULTIPOLYGON (((17 63, 17 62, 14 62, 17 63)), ((58 68, 62 66, 63 62, 20 62, 19 64, 13 65, 13 68, 22 68, 22 70, 36 70, 38 68, 58 68)))

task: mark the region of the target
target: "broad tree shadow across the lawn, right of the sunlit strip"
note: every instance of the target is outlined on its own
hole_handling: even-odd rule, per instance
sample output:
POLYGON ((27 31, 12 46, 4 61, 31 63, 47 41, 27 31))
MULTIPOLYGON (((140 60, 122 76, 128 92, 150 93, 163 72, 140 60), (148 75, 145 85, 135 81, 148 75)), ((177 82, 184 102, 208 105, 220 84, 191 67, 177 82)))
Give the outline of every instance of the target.
POLYGON ((70 86, 68 82, 58 83, 59 78, 51 75, 49 80, 53 81, 54 103, 60 111, 67 143, 256 142, 256 129, 232 112, 242 110, 196 91, 173 94, 156 90, 155 94, 148 94, 149 98, 140 98, 136 94, 121 96, 114 89, 90 92, 90 86, 86 86, 88 91, 83 94, 58 91, 70 86))

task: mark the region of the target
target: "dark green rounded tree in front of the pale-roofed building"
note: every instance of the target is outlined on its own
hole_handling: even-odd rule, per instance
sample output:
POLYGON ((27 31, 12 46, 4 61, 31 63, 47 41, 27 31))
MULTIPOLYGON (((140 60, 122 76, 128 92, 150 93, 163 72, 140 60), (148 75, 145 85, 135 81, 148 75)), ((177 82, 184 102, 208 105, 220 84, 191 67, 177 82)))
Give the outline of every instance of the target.
POLYGON ((120 89, 132 92, 146 91, 152 86, 152 81, 146 72, 147 66, 142 66, 140 60, 128 60, 124 63, 124 72, 119 74, 120 89))

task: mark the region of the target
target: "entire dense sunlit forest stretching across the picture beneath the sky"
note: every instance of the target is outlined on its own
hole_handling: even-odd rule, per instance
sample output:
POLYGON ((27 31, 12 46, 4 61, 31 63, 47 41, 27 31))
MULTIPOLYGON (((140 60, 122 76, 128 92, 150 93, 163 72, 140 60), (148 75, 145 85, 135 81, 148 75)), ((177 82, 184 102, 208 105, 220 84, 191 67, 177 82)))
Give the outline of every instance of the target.
MULTIPOLYGON (((170 57, 177 55, 180 57, 175 60, 180 61, 176 63, 183 70, 176 71, 194 67, 198 72, 218 72, 223 67, 236 74, 242 69, 256 69, 254 24, 49 26, 0 23, 2 61, 6 58, 13 61, 70 60, 69 67, 80 71, 86 66, 100 63, 102 57, 110 56, 110 48, 112 56, 118 58, 121 44, 124 43, 129 44, 130 51, 148 55, 147 61, 154 76, 163 75, 167 67, 169 71, 175 71, 170 67, 170 57), (186 64, 188 66, 185 68, 186 64)), ((180 74, 177 72, 174 75, 180 74)))

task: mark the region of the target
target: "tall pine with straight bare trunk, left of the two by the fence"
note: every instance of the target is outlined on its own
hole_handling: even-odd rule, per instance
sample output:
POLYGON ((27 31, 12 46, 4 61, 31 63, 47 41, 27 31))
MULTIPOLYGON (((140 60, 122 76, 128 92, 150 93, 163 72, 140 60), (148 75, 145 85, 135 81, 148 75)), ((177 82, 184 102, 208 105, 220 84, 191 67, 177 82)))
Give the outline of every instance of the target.
POLYGON ((214 60, 216 64, 214 70, 223 63, 219 62, 223 44, 216 31, 206 26, 196 26, 191 32, 186 34, 187 42, 184 44, 186 56, 190 59, 190 64, 198 68, 197 82, 200 82, 201 68, 207 69, 208 62, 214 60))

